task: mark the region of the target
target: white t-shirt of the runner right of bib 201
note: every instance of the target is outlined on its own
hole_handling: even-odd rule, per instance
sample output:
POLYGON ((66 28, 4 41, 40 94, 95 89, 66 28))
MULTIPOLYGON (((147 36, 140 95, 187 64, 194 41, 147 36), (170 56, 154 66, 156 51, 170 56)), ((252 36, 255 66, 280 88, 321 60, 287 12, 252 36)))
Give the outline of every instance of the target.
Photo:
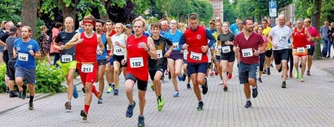
POLYGON ((282 50, 282 49, 289 49, 289 37, 292 35, 292 30, 284 26, 281 28, 279 25, 271 28, 269 33, 273 37, 273 44, 278 46, 277 49, 273 48, 273 50, 282 50))

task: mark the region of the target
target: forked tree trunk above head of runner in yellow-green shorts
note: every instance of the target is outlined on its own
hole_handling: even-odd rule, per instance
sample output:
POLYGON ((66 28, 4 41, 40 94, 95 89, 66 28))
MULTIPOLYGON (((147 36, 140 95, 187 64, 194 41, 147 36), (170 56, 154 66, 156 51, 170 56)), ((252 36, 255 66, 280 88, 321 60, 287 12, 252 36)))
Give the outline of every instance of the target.
POLYGON ((75 7, 77 6, 77 1, 75 1, 74 6, 69 6, 69 7, 65 6, 65 3, 63 2, 63 0, 58 0, 58 2, 61 4, 61 11, 63 12, 63 21, 65 22, 66 17, 72 17, 73 22, 75 24, 75 20, 76 20, 75 7))

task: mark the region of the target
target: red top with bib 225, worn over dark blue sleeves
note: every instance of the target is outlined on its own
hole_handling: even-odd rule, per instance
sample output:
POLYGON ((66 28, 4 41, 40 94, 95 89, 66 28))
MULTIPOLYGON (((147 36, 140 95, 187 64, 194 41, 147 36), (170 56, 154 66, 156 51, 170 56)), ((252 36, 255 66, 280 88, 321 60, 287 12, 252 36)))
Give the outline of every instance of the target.
MULTIPOLYGON (((186 44, 188 44, 188 55, 186 57, 189 63, 207 63, 207 53, 203 53, 201 47, 207 44, 207 35, 204 27, 198 27, 196 31, 191 31, 191 28, 184 32, 186 44)), ((208 49, 209 51, 210 49, 208 49)))

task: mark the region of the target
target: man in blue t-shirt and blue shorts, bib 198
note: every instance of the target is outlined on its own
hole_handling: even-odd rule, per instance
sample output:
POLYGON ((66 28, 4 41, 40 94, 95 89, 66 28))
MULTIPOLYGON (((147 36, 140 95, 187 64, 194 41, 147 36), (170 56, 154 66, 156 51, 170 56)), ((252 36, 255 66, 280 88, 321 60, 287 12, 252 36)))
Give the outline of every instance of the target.
POLYGON ((36 83, 36 63, 35 59, 40 58, 40 47, 38 43, 31 39, 31 28, 22 27, 22 38, 14 41, 13 58, 17 58, 15 63, 15 82, 22 87, 22 99, 26 99, 26 89, 29 88, 29 110, 33 110, 33 96, 35 95, 36 83), (26 78, 26 86, 23 79, 26 78))

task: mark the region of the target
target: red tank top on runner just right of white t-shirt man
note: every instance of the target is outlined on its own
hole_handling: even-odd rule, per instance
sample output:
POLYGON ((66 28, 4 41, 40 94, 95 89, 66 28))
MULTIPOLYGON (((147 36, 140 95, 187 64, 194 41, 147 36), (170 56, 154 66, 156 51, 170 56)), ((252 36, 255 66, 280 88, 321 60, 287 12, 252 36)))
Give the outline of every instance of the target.
POLYGON ((298 28, 294 28, 294 33, 292 34, 292 37, 294 37, 294 49, 297 49, 297 47, 305 47, 306 46, 306 40, 305 40, 305 27, 299 32, 298 28))

